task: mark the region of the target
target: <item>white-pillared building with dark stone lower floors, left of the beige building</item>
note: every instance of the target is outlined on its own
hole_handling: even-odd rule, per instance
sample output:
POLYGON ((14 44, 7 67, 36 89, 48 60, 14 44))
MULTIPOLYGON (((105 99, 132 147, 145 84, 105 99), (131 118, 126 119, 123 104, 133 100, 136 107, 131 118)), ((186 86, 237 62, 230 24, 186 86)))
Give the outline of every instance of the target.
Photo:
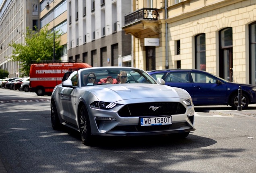
POLYGON ((131 35, 122 30, 131 0, 68 0, 68 60, 133 66, 131 35))

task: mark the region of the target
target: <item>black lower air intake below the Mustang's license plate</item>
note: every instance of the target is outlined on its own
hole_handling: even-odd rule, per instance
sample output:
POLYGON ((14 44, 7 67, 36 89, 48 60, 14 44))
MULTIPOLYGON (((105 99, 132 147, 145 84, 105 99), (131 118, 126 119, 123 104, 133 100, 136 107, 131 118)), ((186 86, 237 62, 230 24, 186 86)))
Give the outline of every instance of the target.
POLYGON ((150 131, 165 131, 171 129, 179 129, 180 127, 187 126, 188 123, 172 123, 171 125, 155 125, 155 126, 140 126, 140 125, 130 125, 130 126, 116 126, 111 131, 126 131, 126 132, 150 132, 150 131))

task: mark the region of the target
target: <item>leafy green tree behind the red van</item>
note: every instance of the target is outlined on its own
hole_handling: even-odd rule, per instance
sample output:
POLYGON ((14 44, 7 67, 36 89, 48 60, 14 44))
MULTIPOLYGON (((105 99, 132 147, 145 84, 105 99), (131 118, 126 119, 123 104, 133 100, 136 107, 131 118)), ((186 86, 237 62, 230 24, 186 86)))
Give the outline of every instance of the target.
MULTIPOLYGON (((48 30, 48 25, 38 32, 27 27, 25 44, 15 43, 14 41, 9 44, 13 47, 11 58, 21 64, 20 72, 22 75, 28 76, 30 65, 35 62, 50 62, 53 60, 54 33, 48 30)), ((60 30, 55 31, 56 60, 60 59, 62 50, 60 36, 60 30)))

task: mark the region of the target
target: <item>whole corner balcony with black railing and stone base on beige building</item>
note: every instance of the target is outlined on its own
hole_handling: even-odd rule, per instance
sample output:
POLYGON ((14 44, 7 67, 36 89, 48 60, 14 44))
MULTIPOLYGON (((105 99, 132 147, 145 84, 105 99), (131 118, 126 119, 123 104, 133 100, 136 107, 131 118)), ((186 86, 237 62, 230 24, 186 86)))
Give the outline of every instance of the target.
POLYGON ((124 16, 124 26, 122 29, 126 34, 132 34, 139 38, 140 31, 147 28, 158 33, 159 26, 157 20, 159 20, 159 15, 156 8, 142 8, 124 16))

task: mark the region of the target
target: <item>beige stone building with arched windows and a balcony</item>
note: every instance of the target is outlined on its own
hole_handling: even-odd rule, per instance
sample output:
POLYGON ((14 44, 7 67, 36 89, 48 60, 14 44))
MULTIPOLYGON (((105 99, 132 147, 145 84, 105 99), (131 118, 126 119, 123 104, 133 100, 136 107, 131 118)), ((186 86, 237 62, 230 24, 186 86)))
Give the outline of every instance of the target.
POLYGON ((133 0, 134 66, 195 68, 256 84, 255 0, 133 0))

